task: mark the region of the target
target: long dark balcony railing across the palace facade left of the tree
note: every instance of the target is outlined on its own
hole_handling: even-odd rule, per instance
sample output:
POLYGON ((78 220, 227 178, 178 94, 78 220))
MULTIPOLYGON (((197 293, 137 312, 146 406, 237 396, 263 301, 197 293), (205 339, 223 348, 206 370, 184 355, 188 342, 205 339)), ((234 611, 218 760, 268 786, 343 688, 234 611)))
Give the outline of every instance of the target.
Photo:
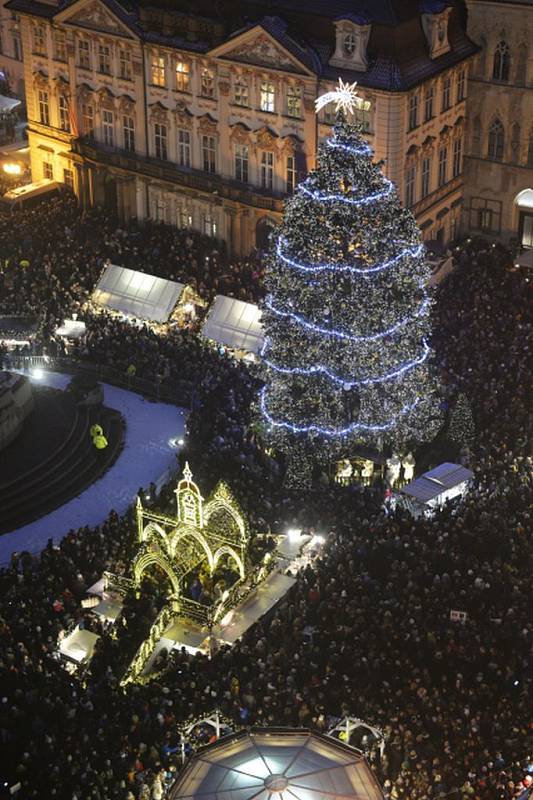
POLYGON ((72 149, 99 164, 137 172, 155 180, 177 183, 199 192, 218 195, 228 200, 236 200, 246 205, 269 211, 283 210, 284 195, 280 193, 263 193, 259 189, 242 185, 237 181, 222 178, 220 175, 202 172, 201 170, 182 168, 171 161, 160 161, 156 158, 133 153, 119 147, 111 147, 94 139, 81 137, 72 142, 72 149))

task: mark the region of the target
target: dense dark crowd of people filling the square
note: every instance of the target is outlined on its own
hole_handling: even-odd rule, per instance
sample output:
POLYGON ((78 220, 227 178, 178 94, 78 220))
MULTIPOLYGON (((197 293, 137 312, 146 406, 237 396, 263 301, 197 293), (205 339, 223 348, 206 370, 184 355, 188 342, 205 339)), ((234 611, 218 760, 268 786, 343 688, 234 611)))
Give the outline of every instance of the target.
MULTIPOLYGON (((81 306, 101 261, 119 261, 115 248, 121 263, 139 266, 138 253, 144 268, 163 271, 174 246, 186 269, 194 241, 158 225, 146 238, 136 223, 117 233, 104 212, 80 214, 68 202, 57 216, 41 209, 33 225, 21 219, 1 254, 9 291, 0 296, 20 312, 48 309, 45 346, 52 322, 81 306)), ((0 218, 0 229, 8 226, 0 218)), ((202 247, 197 267, 206 254, 212 266, 212 243, 202 247)), ((251 424, 257 378, 246 367, 188 332, 161 337, 88 319, 78 358, 194 383, 186 455, 206 492, 224 478, 252 530, 314 528, 326 543, 233 648, 212 659, 173 651, 162 677, 126 691, 112 640, 80 683, 60 662, 57 639, 104 570, 127 574, 131 514, 63 538, 58 531, 57 546, 40 556, 14 556, 0 573, 2 782, 20 782, 24 798, 160 800, 181 766, 180 723, 217 707, 235 726, 324 730, 328 716, 344 714, 378 724, 386 747, 373 767, 390 800, 528 796, 532 284, 499 246, 466 241, 456 260, 437 293, 435 347, 444 380, 472 404, 476 480, 459 506, 432 519, 385 509, 379 486, 287 492, 251 424), (451 610, 466 620, 451 620, 451 610)), ((179 276, 180 266, 168 268, 179 276)), ((216 280, 208 273, 196 271, 198 288, 216 280)), ((260 271, 257 282, 260 292, 260 271)), ((172 489, 163 488, 157 507, 169 507, 172 489)))

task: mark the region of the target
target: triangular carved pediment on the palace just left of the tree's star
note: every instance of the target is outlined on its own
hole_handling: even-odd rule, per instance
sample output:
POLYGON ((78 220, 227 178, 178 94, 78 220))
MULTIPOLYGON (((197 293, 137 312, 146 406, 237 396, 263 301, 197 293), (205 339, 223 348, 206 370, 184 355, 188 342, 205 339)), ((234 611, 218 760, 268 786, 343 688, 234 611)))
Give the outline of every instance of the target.
POLYGON ((309 70, 288 53, 270 34, 259 26, 237 40, 227 42, 211 51, 210 55, 224 61, 253 64, 256 67, 279 69, 297 75, 309 74, 309 70), (257 33, 257 31, 261 31, 257 33), (237 43, 238 42, 238 43, 237 43))

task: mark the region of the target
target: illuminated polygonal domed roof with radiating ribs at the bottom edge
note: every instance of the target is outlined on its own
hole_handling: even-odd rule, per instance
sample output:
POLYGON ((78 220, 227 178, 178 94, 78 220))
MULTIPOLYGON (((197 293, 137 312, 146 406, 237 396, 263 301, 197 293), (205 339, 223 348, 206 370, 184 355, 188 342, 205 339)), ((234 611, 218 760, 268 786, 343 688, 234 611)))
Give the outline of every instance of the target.
POLYGON ((256 728, 202 748, 171 800, 383 800, 364 757, 302 728, 256 728))

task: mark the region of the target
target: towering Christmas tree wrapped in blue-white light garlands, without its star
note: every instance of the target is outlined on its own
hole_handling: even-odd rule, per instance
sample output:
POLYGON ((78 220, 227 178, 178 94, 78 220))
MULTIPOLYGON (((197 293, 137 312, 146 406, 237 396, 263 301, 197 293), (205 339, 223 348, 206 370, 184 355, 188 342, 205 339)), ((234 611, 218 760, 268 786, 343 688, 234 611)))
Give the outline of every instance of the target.
POLYGON ((287 453, 398 447, 440 424, 424 248, 372 155, 338 115, 276 232, 260 408, 287 453))

